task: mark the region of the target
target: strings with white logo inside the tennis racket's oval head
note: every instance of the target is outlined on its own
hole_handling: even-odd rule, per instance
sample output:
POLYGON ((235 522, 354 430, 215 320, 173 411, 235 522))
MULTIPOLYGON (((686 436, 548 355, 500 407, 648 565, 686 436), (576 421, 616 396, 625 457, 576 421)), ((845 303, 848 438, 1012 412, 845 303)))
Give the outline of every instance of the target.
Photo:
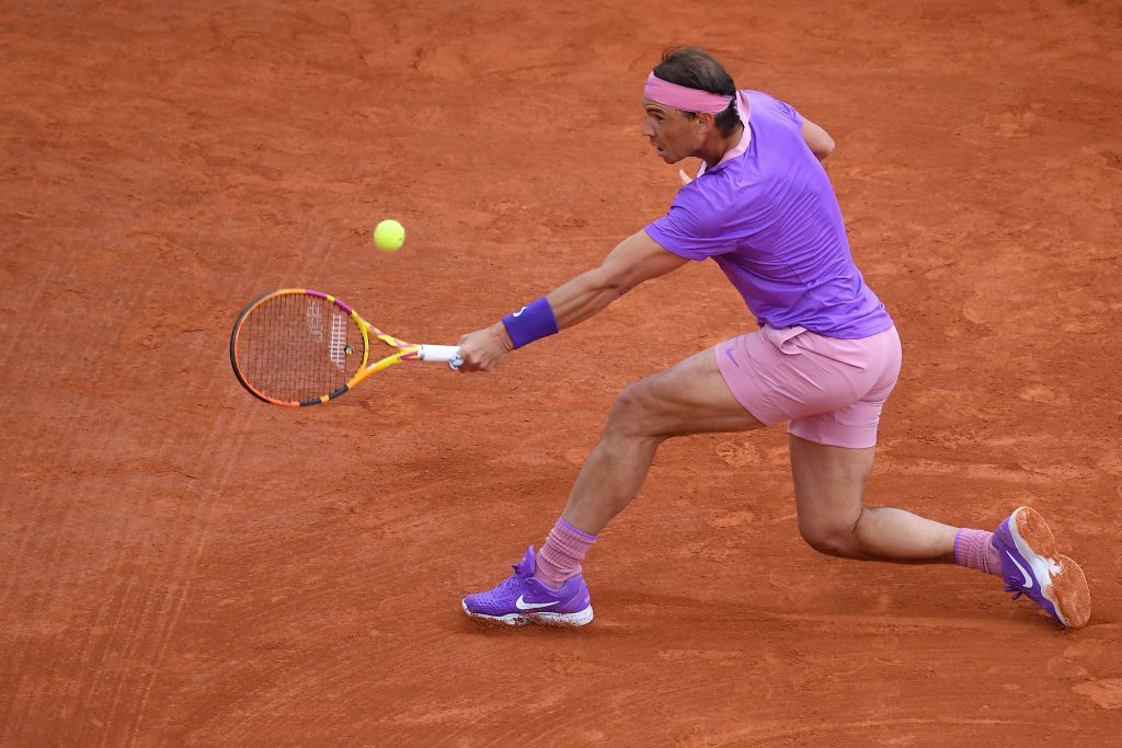
POLYGON ((269 399, 300 403, 334 393, 362 362, 362 334, 333 303, 282 294, 257 305, 238 333, 238 368, 269 399))

